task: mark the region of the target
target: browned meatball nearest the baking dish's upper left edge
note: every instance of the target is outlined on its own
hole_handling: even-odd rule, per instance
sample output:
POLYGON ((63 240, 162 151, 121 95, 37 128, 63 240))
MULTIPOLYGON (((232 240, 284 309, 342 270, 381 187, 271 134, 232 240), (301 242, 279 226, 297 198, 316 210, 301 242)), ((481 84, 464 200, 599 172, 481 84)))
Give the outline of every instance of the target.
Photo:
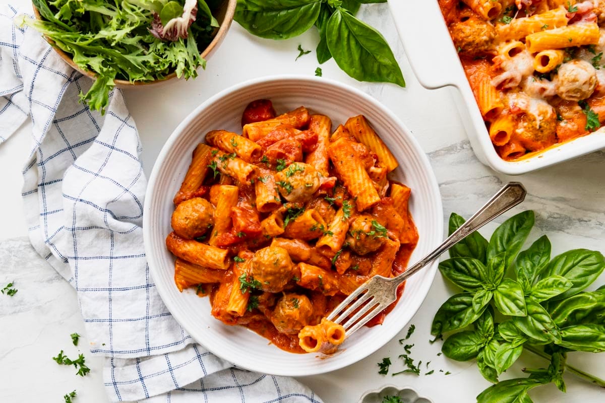
POLYGON ((496 31, 494 25, 472 16, 463 22, 450 25, 451 37, 460 54, 466 56, 485 56, 494 53, 496 31))

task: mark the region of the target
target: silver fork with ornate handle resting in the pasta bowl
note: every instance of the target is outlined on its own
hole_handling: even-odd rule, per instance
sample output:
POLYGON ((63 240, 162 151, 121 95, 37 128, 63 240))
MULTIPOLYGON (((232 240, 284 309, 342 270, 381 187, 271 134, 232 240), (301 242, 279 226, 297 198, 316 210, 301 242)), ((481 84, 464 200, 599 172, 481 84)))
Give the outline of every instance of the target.
POLYGON ((327 320, 342 324, 346 337, 364 326, 367 321, 376 316, 382 309, 397 299, 397 286, 417 271, 424 268, 428 263, 450 249, 463 237, 481 228, 492 219, 508 211, 525 199, 526 190, 520 182, 508 182, 499 190, 482 208, 471 218, 460 226, 448 239, 444 240, 439 247, 422 258, 411 268, 407 269, 397 277, 374 276, 359 286, 340 305, 338 305, 327 320), (361 295, 361 296, 360 296, 361 295), (356 309, 359 309, 355 312, 356 309), (355 314, 348 318, 353 312, 355 314))

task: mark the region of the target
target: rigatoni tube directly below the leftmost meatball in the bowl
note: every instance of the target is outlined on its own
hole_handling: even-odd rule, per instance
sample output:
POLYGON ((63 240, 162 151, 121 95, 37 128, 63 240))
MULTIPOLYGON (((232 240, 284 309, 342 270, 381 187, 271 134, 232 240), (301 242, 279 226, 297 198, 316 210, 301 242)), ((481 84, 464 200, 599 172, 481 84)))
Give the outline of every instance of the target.
POLYGON ((187 260, 199 266, 209 269, 226 270, 229 268, 229 256, 227 250, 197 240, 183 239, 174 232, 166 237, 166 247, 174 256, 187 260))

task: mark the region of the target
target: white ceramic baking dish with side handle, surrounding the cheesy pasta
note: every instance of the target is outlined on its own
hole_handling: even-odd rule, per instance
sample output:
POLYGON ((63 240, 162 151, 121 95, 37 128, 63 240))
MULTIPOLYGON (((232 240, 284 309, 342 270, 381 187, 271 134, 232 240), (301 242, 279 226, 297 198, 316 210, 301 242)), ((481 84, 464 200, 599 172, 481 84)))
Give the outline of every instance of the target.
POLYGON ((584 137, 552 147, 531 158, 504 161, 495 152, 471 86, 450 38, 437 0, 390 0, 393 19, 410 65, 428 89, 454 86, 456 108, 479 160, 507 175, 542 169, 605 148, 605 127, 584 137))

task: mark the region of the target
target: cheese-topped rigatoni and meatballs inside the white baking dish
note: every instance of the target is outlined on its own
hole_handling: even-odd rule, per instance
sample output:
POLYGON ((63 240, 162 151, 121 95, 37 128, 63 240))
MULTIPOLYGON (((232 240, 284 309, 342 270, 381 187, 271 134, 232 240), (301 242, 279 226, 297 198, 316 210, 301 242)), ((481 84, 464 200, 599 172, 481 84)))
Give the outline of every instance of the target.
POLYGON ((605 0, 438 1, 503 160, 601 127, 605 0))

